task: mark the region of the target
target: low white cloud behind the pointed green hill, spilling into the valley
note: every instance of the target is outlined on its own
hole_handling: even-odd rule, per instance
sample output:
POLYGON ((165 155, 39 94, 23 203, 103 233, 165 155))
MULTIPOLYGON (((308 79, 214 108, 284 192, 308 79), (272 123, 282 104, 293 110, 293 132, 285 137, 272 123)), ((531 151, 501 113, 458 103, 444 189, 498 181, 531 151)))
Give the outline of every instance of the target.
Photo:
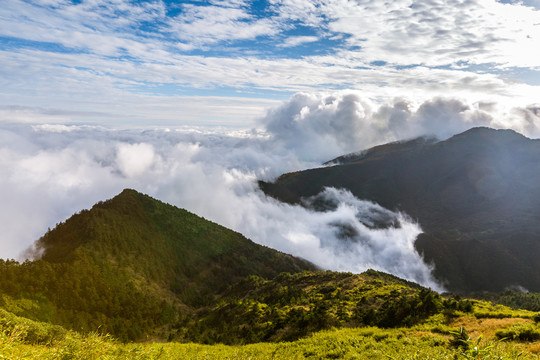
POLYGON ((267 138, 58 126, 3 133, 9 142, 0 149, 8 200, 1 208, 2 257, 16 256, 46 227, 131 187, 324 268, 376 268, 437 286, 412 248, 420 229, 410 220, 379 209, 402 226, 370 230, 362 221, 369 223, 377 206, 340 191, 325 195, 341 204, 326 213, 266 198, 257 178, 310 165, 267 138), (12 146, 19 139, 32 147, 12 146), (354 228, 356 237, 341 241, 337 223, 354 228))

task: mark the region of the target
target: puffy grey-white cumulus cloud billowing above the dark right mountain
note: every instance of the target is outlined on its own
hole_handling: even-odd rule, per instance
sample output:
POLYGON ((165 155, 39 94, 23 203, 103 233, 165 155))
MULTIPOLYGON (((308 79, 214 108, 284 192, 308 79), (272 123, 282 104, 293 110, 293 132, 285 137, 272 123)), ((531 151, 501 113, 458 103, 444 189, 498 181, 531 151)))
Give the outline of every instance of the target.
POLYGON ((320 161, 385 142, 429 135, 441 140, 474 126, 512 128, 540 136, 538 106, 504 108, 453 98, 378 104, 361 92, 299 93, 269 111, 261 124, 280 146, 320 161))

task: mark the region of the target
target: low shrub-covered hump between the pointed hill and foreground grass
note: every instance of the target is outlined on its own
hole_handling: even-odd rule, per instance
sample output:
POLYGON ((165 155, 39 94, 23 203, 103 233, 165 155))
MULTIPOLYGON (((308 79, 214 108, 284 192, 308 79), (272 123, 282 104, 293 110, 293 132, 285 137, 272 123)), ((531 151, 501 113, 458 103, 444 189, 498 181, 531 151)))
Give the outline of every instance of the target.
POLYGON ((290 341, 330 328, 412 326, 450 303, 375 271, 283 273, 273 280, 242 280, 196 323, 184 326, 192 331, 191 340, 203 343, 290 341))

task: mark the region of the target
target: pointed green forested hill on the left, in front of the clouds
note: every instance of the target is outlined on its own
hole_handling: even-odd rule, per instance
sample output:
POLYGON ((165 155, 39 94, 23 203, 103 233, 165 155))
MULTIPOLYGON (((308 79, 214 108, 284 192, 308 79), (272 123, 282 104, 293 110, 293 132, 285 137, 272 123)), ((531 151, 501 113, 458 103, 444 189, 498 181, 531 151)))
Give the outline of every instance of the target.
POLYGON ((57 224, 34 248, 38 260, 0 260, 0 306, 124 340, 168 339, 246 276, 316 269, 129 189, 57 224))

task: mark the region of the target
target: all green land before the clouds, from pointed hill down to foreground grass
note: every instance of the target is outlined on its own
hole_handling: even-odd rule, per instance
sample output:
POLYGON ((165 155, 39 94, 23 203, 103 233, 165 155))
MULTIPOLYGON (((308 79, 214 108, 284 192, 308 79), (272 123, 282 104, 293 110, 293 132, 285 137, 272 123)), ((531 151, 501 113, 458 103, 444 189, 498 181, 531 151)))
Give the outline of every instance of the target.
POLYGON ((131 190, 59 224, 37 249, 40 260, 0 260, 0 359, 540 354, 538 312, 373 270, 315 271, 131 190))

